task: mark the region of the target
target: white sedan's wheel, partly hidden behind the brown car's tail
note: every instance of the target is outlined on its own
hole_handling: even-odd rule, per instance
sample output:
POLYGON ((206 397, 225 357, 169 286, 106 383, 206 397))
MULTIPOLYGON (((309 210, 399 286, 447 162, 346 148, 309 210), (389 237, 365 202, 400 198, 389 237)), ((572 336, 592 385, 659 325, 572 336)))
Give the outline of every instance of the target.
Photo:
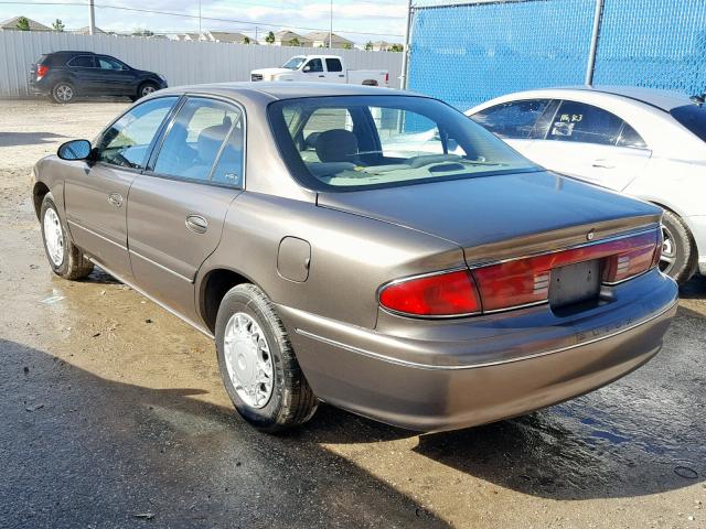
POLYGON ((688 281, 698 261, 698 252, 692 234, 684 220, 672 212, 664 212, 662 216, 662 259, 660 270, 680 284, 688 281))

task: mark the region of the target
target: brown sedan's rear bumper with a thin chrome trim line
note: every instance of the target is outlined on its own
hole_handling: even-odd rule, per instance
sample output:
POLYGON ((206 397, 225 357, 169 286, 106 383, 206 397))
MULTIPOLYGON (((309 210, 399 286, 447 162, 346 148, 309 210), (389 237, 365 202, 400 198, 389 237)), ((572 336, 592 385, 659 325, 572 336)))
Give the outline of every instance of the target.
POLYGON ((441 431, 561 402, 652 358, 676 312, 676 285, 656 271, 629 283, 635 281, 642 288, 620 287, 653 294, 632 302, 623 295, 565 325, 532 324, 549 311, 541 306, 402 337, 288 307, 280 313, 319 398, 389 424, 441 431))

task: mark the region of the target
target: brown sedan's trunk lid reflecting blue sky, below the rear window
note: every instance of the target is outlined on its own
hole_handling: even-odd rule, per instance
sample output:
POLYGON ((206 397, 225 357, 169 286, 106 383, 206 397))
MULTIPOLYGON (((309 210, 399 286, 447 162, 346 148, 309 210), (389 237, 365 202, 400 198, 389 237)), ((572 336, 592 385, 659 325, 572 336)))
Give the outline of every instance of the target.
POLYGON ((469 264, 586 244, 661 217, 644 202, 544 171, 322 192, 318 205, 447 239, 469 264))

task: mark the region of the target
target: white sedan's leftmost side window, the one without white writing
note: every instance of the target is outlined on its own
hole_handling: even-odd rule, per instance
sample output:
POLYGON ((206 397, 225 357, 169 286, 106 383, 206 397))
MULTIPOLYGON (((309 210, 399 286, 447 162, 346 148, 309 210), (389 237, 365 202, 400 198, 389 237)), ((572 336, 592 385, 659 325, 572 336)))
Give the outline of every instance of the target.
POLYGON ((500 138, 532 138, 537 119, 549 105, 549 99, 527 99, 503 102, 471 116, 477 123, 500 138))

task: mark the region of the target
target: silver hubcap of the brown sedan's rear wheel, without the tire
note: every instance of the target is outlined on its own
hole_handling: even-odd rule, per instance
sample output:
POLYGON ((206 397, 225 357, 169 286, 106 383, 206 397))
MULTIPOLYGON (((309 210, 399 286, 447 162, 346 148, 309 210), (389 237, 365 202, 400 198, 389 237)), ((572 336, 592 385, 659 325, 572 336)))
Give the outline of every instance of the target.
POLYGON ((253 317, 236 312, 225 326, 225 366, 243 402, 263 408, 272 395, 272 356, 265 333, 253 317))

